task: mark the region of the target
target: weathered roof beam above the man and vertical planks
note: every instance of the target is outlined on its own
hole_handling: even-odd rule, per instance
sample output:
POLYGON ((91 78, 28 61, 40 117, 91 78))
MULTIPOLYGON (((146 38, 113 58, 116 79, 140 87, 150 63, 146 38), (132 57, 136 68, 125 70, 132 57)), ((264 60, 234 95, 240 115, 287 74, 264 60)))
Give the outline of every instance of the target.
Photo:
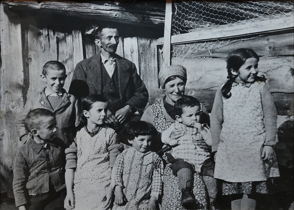
MULTIPOLYGON (((144 25, 147 27, 160 26, 164 24, 164 16, 158 15, 156 12, 144 11, 132 14, 120 6, 104 4, 88 4, 88 3, 65 3, 54 1, 3 1, 2 4, 16 13, 41 12, 64 14, 66 16, 87 18, 103 21, 112 21, 119 23, 127 23, 133 25, 144 25)), ((135 12, 134 12, 135 13, 135 12)))

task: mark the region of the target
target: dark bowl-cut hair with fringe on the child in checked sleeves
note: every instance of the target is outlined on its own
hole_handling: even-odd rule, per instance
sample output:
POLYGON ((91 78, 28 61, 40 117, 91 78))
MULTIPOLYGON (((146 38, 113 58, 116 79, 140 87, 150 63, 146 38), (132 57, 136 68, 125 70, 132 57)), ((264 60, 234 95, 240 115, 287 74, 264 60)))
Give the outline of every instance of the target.
MULTIPOLYGON (((127 140, 134 140, 135 137, 139 135, 158 135, 156 128, 148 122, 145 121, 131 121, 126 123, 121 132, 118 134, 118 141, 119 142, 126 142, 127 140)), ((153 140, 154 138, 152 138, 153 140)))

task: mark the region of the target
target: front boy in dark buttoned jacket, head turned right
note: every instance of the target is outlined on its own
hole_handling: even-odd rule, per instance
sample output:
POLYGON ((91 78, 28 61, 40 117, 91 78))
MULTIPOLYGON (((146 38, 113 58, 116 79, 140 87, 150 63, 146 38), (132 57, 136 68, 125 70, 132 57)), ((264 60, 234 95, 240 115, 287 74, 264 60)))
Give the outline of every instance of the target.
POLYGON ((65 144, 55 137, 55 116, 49 110, 34 109, 24 123, 29 139, 18 149, 14 161, 16 207, 63 209, 65 144))

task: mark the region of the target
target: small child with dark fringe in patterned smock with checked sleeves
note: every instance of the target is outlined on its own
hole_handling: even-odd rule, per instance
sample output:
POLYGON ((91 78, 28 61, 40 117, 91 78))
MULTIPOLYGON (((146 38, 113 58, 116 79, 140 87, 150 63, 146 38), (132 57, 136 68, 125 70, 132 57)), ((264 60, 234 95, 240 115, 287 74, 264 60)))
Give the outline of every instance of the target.
POLYGON ((145 121, 131 121, 121 130, 118 139, 127 139, 132 147, 119 154, 113 166, 114 210, 158 209, 163 162, 150 150, 156 135, 154 126, 145 121))

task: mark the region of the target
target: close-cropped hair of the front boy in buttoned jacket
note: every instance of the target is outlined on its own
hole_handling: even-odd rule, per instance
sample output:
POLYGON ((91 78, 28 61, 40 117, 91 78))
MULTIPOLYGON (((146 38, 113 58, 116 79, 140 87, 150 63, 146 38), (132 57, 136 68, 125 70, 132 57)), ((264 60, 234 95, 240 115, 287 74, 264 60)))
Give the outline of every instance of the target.
POLYGON ((26 127, 26 130, 31 132, 32 129, 39 128, 41 123, 41 117, 55 118, 55 115, 48 109, 39 108, 31 110, 24 119, 24 126, 26 127))

